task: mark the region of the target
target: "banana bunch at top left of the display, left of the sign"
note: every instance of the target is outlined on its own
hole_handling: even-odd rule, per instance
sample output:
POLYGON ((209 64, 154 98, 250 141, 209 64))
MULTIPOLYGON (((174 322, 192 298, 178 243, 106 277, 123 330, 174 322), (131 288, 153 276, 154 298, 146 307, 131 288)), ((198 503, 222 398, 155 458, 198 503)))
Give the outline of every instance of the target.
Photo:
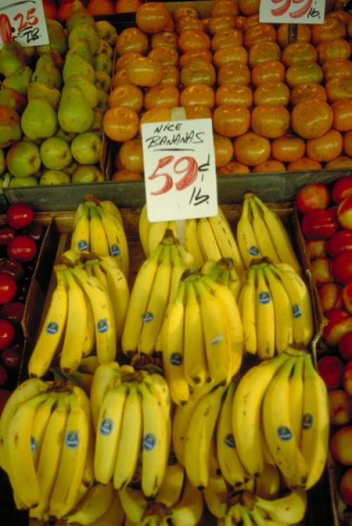
POLYGON ((110 255, 128 277, 130 252, 120 211, 112 201, 86 196, 75 214, 71 249, 89 251, 96 256, 110 255))

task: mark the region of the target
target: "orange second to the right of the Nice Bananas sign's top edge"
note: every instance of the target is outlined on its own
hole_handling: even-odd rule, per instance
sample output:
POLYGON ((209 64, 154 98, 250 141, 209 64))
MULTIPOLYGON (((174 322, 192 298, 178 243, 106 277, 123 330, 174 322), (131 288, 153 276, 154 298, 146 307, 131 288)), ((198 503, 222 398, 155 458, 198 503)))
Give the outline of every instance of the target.
POLYGON ((284 135, 289 129, 290 114, 283 106, 256 106, 251 115, 253 132, 275 139, 284 135))

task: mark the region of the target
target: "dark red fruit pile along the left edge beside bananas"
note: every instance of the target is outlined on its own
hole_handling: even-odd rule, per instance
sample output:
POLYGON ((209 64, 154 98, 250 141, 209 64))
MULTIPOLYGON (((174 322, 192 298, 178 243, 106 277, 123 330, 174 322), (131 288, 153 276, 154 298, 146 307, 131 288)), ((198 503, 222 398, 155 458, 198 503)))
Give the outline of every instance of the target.
POLYGON ((23 352, 21 321, 44 227, 32 208, 15 203, 0 227, 0 414, 18 380, 23 352))

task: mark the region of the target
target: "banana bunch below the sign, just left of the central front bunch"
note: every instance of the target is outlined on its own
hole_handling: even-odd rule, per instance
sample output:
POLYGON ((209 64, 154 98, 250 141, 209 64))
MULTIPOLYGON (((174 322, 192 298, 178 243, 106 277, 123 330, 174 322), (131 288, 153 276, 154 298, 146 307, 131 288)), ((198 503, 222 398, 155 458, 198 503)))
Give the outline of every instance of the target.
POLYGON ((149 355, 161 350, 158 337, 165 312, 175 299, 182 274, 193 266, 191 254, 177 242, 171 230, 166 230, 134 281, 121 341, 127 356, 136 351, 149 355))

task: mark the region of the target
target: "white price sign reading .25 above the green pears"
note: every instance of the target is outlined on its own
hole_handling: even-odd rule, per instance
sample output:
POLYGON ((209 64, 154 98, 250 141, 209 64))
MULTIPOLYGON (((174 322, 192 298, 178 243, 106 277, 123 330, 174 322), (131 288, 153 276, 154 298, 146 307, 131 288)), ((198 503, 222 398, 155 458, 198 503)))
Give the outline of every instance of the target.
POLYGON ((11 40, 23 47, 49 44, 42 0, 0 0, 0 48, 11 40))

